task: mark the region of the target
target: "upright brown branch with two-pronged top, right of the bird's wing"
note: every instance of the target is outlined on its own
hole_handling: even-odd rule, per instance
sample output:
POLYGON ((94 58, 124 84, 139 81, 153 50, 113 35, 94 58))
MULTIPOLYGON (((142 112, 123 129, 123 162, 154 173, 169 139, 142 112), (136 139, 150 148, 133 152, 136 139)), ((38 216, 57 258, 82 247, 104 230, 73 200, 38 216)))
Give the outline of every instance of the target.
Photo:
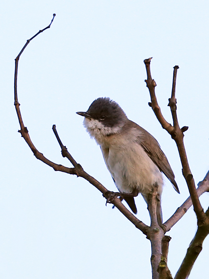
POLYGON ((193 179, 193 175, 191 174, 191 170, 189 168, 189 163, 187 160, 186 150, 185 150, 184 142, 183 142, 183 137, 184 137, 183 131, 186 131, 187 127, 184 126, 182 129, 180 129, 179 124, 178 124, 177 114, 176 114, 176 97, 175 97, 176 74, 177 74, 177 69, 179 67, 178 66, 174 67, 172 94, 171 94, 171 98, 169 99, 169 104, 168 104, 171 107, 171 114, 172 114, 173 123, 174 123, 174 126, 171 126, 171 124, 169 124, 162 116, 160 107, 157 103, 157 98, 155 96, 156 83, 154 80, 152 80, 152 77, 151 77, 150 61, 151 61, 151 58, 144 60, 146 70, 147 70, 147 80, 145 80, 145 82, 147 83, 147 87, 149 88, 150 97, 151 97, 151 106, 152 106, 152 109, 153 109, 157 119, 161 123, 162 128, 166 129, 166 131, 171 135, 172 139, 174 139, 176 142, 176 145, 177 145, 178 151, 179 151, 179 156, 181 159, 183 176, 186 180, 186 183, 187 183, 187 186, 189 189, 189 194, 191 196, 194 211, 195 211, 197 219, 198 219, 198 224, 202 225, 206 219, 206 215, 203 211, 203 208, 200 204, 200 200, 199 200, 197 192, 196 192, 195 181, 193 179))

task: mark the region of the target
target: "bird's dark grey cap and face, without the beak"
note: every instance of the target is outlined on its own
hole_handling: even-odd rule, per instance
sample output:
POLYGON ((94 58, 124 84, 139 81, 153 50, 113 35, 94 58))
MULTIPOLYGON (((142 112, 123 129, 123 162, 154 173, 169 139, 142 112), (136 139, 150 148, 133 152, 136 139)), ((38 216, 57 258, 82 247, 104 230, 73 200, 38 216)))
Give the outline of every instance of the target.
POLYGON ((93 119, 97 119, 108 127, 121 124, 121 122, 124 122, 127 119, 127 116, 121 107, 108 97, 101 97, 94 100, 86 113, 93 119))

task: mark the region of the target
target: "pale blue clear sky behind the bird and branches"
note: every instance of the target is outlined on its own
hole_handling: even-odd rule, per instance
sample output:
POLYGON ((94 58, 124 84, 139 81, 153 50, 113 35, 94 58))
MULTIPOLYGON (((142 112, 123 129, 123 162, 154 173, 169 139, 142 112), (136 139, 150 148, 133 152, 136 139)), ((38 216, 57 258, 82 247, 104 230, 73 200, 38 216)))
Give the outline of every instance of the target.
MULTIPOLYGON (((116 191, 100 148, 89 138, 77 111, 98 97, 120 104, 129 119, 160 143, 181 194, 165 178, 166 221, 188 197, 175 142, 152 109, 144 59, 153 57, 152 78, 159 105, 171 122, 172 73, 179 125, 196 184, 209 169, 208 1, 37 0, 3 1, 1 20, 0 278, 151 278, 150 242, 102 194, 81 177, 55 172, 37 160, 20 133, 14 108, 14 59, 19 62, 18 100, 31 140, 45 157, 62 158, 52 131, 108 190, 116 191)), ((137 218, 149 225, 146 204, 136 199, 137 218)), ((204 210, 209 194, 200 198, 204 210)), ((171 229, 168 267, 174 276, 195 235, 192 208, 171 229)), ((209 238, 189 278, 208 278, 209 238)))

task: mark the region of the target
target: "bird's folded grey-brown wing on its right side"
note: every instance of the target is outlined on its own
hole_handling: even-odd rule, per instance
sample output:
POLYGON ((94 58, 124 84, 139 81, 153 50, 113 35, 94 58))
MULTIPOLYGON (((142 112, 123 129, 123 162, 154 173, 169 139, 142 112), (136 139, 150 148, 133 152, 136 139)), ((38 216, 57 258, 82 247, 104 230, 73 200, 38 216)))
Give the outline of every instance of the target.
POLYGON ((137 128, 141 132, 138 143, 144 148, 150 159, 152 159, 152 161, 158 166, 159 170, 166 175, 166 177, 173 184, 174 189, 180 194, 179 188, 175 181, 174 173, 157 140, 155 140, 155 138, 150 133, 138 126, 136 123, 132 122, 131 126, 133 128, 137 128))

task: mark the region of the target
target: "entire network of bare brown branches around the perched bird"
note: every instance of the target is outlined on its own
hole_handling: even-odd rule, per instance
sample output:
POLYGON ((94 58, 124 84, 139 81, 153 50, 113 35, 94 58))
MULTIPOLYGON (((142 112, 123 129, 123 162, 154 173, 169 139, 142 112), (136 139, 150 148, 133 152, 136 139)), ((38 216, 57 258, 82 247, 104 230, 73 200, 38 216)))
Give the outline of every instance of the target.
MULTIPOLYGON (((36 33, 33 37, 31 37, 29 40, 27 40, 24 47, 21 49, 20 53, 15 59, 15 73, 14 73, 14 105, 16 108, 18 120, 20 122, 20 130, 18 132, 21 133, 21 136, 25 139, 26 143, 32 150, 33 154, 38 160, 41 160, 43 163, 49 165, 56 171, 66 172, 68 174, 76 174, 77 176, 83 177, 86 179, 89 183, 91 183, 93 186, 95 186, 102 194, 106 197, 106 193, 109 192, 100 182, 98 182, 94 177, 87 174, 80 164, 74 160, 74 158, 71 156, 71 154, 67 151, 66 146, 64 146, 59 138, 59 135, 56 130, 56 126, 53 125, 53 131, 57 138, 57 141, 59 142, 59 145, 61 147, 62 156, 68 158, 68 160, 72 163, 74 166, 73 168, 68 168, 63 165, 56 164, 50 160, 48 160, 46 157, 43 156, 42 153, 40 153, 37 148, 32 143, 28 129, 24 126, 23 119, 20 112, 20 104, 18 102, 18 96, 17 96, 17 75, 18 75, 18 61, 20 59, 21 54, 23 53, 26 46, 29 44, 29 42, 34 39, 38 34, 43 32, 44 30, 50 28, 53 20, 54 20, 55 14, 53 15, 53 18, 51 20, 51 23, 44 29, 40 30, 38 33, 36 33)), ((170 275, 170 272, 167 268, 167 252, 168 252, 168 244, 169 244, 169 237, 164 236, 164 233, 171 229, 171 227, 178 222, 178 220, 185 214, 186 210, 191 206, 192 202, 194 205, 194 210, 196 212, 197 218, 198 218, 198 232, 191 244, 191 249, 189 247, 188 253, 185 256, 185 259, 182 263, 182 266, 179 268, 180 271, 178 273, 180 276, 183 275, 182 270, 184 272, 184 262, 187 264, 187 261, 190 261, 190 266, 187 268, 187 270, 191 270, 193 263, 195 261, 195 247, 197 245, 201 245, 204 238, 209 232, 209 213, 206 211, 204 213, 200 201, 198 199, 198 196, 200 196, 205 191, 209 191, 209 172, 206 175, 205 179, 199 184, 198 189, 196 190, 194 180, 191 174, 191 171, 189 169, 188 160, 186 157, 186 152, 183 144, 183 132, 188 129, 188 127, 184 126, 180 129, 176 114, 176 98, 175 98, 175 85, 176 85, 176 74, 178 66, 174 67, 174 76, 173 76, 173 86, 172 86, 172 94, 171 98, 169 99, 169 106, 171 107, 171 113, 173 117, 173 126, 168 123, 164 117, 162 116, 161 109, 157 103, 157 98, 155 96, 155 86, 156 83, 154 80, 152 80, 151 73, 150 73, 150 60, 146 59, 145 65, 147 69, 147 87, 150 91, 150 97, 151 97, 151 103, 149 105, 152 107, 152 109, 155 112, 155 115, 157 116, 157 119, 161 123, 162 127, 168 131, 169 134, 171 134, 172 138, 176 141, 176 144, 178 146, 179 155, 181 158, 181 163, 183 167, 183 175, 186 179, 189 192, 191 195, 191 198, 189 197, 183 205, 176 210, 174 215, 169 218, 164 224, 159 225, 157 222, 157 215, 156 215, 156 208, 157 208, 157 189, 153 190, 153 193, 150 196, 150 199, 148 201, 149 211, 150 211, 150 218, 151 218, 151 226, 145 225, 143 222, 141 222, 138 218, 136 218, 120 201, 119 198, 115 198, 112 203, 115 207, 118 208, 118 210, 121 211, 121 213, 127 217, 130 222, 132 222, 139 230, 141 230, 145 235, 147 235, 147 238, 150 239, 152 244, 152 257, 151 257, 151 263, 152 263, 152 269, 153 269, 153 278, 162 278, 162 279, 168 279, 172 278, 170 275), (200 226, 201 225, 201 226, 200 226), (162 250, 161 250, 162 248, 162 250), (191 250, 191 251, 190 251, 191 250), (193 256, 191 256, 191 254, 193 256)), ((198 256, 198 255, 197 255, 198 256)), ((196 257, 197 257, 196 256, 196 257)), ((177 274, 178 274, 177 273, 177 274)), ((176 277, 176 278, 186 278, 186 277, 176 277)))

